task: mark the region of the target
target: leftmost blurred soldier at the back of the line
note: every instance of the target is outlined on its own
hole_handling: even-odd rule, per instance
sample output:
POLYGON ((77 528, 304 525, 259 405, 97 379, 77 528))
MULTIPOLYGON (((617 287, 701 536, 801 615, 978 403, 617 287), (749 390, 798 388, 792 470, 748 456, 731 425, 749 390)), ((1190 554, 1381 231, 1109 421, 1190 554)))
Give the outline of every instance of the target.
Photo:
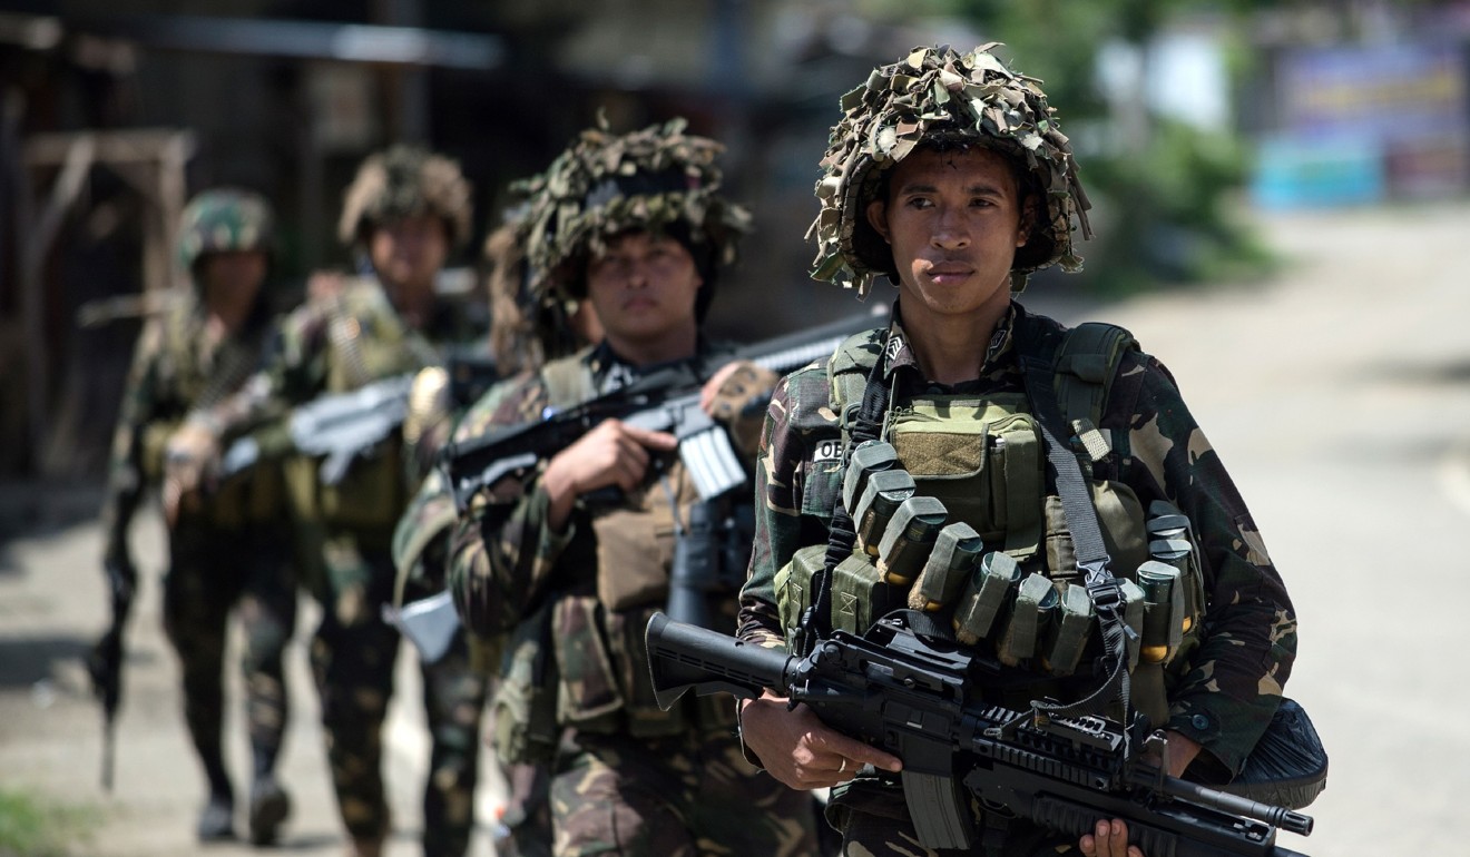
MULTIPOLYGON (((260 363, 272 320, 265 290, 270 247, 270 206, 257 194, 212 190, 184 209, 178 253, 193 288, 163 318, 150 319, 113 435, 104 562, 129 585, 135 572, 128 525, 144 488, 162 481, 166 438, 191 409, 222 401, 260 363)), ((235 607, 245 629, 251 842, 273 842, 291 806, 275 779, 287 722, 281 656, 295 623, 279 507, 279 470, 263 467, 190 504, 168 532, 163 622, 182 667, 184 719, 209 782, 197 828, 201 841, 234 836, 235 797, 220 747, 220 673, 235 607)))

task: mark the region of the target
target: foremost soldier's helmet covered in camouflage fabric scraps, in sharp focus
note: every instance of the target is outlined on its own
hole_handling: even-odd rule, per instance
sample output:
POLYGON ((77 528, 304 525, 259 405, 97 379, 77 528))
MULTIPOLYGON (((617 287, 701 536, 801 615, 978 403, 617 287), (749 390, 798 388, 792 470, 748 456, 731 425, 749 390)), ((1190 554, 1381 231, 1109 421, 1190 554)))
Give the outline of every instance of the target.
POLYGON ((817 243, 813 279, 857 288, 858 295, 878 275, 897 282, 892 250, 869 225, 866 210, 882 193, 885 173, 926 143, 998 151, 1017 169, 1023 196, 1045 200, 1045 212, 1035 203, 1030 237, 1016 250, 1013 291, 1025 288, 1029 272, 1053 263, 1069 272, 1082 268, 1072 248, 1072 219, 1091 238, 1091 204, 1078 182, 1072 147, 1041 81, 1007 69, 991 53, 998 44, 967 54, 948 46, 917 47, 842 96, 844 116, 832 128, 816 187, 822 210, 807 231, 817 243))

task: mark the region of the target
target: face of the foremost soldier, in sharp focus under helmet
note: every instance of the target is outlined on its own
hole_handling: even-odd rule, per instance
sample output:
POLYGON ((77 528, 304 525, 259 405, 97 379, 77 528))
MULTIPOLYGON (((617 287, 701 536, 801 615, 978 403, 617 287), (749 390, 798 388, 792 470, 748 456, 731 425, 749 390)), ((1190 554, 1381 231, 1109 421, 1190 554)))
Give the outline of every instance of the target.
POLYGON ((1010 268, 1026 243, 1016 176, 985 148, 919 150, 894 168, 888 200, 867 222, 892 247, 911 315, 969 315, 1010 300, 1010 268))

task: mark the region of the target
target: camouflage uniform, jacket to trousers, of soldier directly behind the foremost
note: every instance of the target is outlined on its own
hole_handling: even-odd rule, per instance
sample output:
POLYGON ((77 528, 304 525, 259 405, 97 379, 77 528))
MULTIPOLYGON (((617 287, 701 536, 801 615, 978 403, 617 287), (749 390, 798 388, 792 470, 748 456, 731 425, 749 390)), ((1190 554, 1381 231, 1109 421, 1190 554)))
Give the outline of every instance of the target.
MULTIPOLYGON (((726 354, 707 348, 697 373, 707 376, 726 354)), ((606 347, 564 360, 578 362, 598 391, 637 378, 606 347)), ((559 362, 560 363, 560 362, 559 362)), ((476 406, 459 434, 538 419, 548 404, 544 376, 506 382, 476 406)), ((675 494, 692 487, 676 459, 669 462, 675 494)), ((623 567, 632 578, 666 579, 672 526, 650 556, 639 519, 653 519, 664 487, 656 479, 614 509, 584 506, 567 534, 544 522, 545 495, 535 487, 504 519, 479 501, 462 519, 450 582, 466 623, 481 634, 501 634, 539 604, 550 604, 551 638, 562 676, 559 709, 569 726, 556 751, 551 811, 553 850, 559 856, 619 854, 806 854, 814 845, 810 798, 756 772, 739 756, 734 719, 725 704, 700 700, 660 711, 647 679, 644 628, 663 609, 663 591, 641 603, 610 609, 597 594, 598 557, 644 556, 651 569, 623 567), (629 516, 629 512, 638 512, 629 516), (616 516, 616 517, 610 517, 616 516), (600 526, 598 519, 616 520, 600 526), (487 523, 487 520, 490 523, 487 523), (629 544, 613 544, 619 534, 629 544), (662 557, 659 556, 662 553, 662 557), (754 816, 732 806, 759 807, 754 816)), ((734 628, 734 592, 713 606, 734 628)))

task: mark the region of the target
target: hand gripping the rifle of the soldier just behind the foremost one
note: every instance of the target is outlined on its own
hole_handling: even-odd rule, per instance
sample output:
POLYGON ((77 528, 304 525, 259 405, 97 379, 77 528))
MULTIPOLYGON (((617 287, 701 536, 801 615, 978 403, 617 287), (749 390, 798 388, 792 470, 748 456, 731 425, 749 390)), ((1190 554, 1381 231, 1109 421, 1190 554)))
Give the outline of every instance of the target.
POLYGON ((669 451, 679 440, 617 419, 603 420, 575 444, 562 450, 541 475, 541 488, 551 500, 548 523, 562 531, 573 501, 600 488, 638 488, 648 472, 650 451, 669 451))

